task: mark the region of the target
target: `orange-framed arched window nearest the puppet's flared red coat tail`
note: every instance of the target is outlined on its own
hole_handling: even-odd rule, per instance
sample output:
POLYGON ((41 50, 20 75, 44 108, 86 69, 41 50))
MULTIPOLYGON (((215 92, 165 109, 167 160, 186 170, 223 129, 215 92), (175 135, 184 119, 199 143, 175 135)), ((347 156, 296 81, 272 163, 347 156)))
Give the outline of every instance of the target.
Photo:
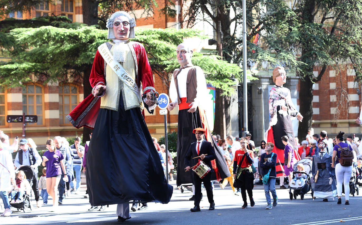
POLYGON ((68 114, 79 104, 78 88, 74 85, 59 86, 59 124, 69 125, 68 114))

